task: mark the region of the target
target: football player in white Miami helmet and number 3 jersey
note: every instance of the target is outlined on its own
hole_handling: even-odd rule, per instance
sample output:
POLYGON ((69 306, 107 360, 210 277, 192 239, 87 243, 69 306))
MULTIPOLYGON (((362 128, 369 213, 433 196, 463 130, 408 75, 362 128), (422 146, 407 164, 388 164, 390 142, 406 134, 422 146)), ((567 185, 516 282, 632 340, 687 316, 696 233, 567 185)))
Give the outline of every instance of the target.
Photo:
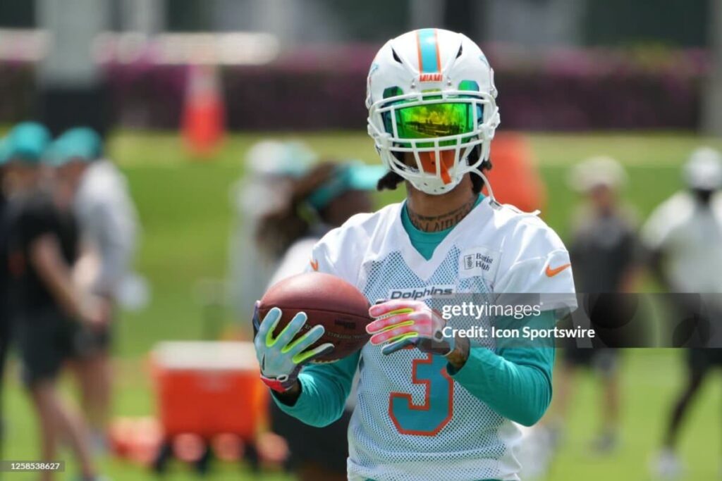
MULTIPOLYGON (((349 425, 351 480, 518 480, 514 424, 536 423, 552 397, 554 350, 461 337, 445 327, 435 293, 558 293, 538 315, 499 323, 552 328, 575 306, 567 250, 534 214, 480 194, 499 110, 493 71, 468 37, 439 29, 390 40, 367 79, 368 131, 406 200, 352 217, 321 239, 311 268, 357 286, 375 318, 360 352, 310 364, 330 343, 323 327, 292 339, 298 314, 255 316, 261 378, 282 410, 310 425, 342 414, 358 370, 349 425), (303 366, 303 370, 302 370, 303 366)), ((487 187, 490 187, 487 185, 487 187)), ((448 299, 446 299, 448 301, 448 299)), ((447 325, 448 324, 448 325, 447 325)))

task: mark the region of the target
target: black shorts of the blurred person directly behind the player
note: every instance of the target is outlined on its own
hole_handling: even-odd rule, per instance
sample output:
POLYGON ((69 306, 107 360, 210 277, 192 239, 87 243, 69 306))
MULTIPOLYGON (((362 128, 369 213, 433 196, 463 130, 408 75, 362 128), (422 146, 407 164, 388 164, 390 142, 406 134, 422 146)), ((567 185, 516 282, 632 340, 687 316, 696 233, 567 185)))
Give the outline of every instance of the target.
POLYGON ((337 472, 346 474, 346 459, 349 456, 348 431, 351 412, 344 410, 341 419, 323 428, 314 428, 280 410, 273 400, 271 403, 271 431, 282 436, 291 451, 290 464, 300 466, 313 462, 337 472))

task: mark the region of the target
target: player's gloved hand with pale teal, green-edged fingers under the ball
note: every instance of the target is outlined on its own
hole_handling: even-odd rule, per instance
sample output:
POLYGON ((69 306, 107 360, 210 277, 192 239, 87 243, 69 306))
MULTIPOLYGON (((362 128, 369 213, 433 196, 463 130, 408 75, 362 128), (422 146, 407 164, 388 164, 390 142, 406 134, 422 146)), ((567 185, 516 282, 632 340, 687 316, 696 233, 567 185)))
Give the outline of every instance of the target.
POLYGON ((256 357, 261 365, 261 380, 276 392, 291 389, 304 364, 334 349, 331 343, 310 349, 323 336, 325 329, 321 325, 313 326, 298 339, 293 339, 306 323, 305 312, 296 314, 284 330, 274 337, 281 315, 281 309, 274 307, 261 320, 258 317, 258 304, 253 314, 253 329, 256 330, 253 344, 256 345, 256 357))

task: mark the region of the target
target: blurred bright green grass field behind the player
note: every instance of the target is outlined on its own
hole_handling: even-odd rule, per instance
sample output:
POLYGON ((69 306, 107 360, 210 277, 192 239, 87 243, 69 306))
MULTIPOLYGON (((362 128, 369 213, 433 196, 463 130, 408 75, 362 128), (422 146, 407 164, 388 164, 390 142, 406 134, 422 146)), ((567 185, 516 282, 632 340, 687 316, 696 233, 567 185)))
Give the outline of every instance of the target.
MULTIPOLYGON (((144 370, 147 353, 158 340, 197 339, 204 327, 193 287, 202 278, 223 278, 227 237, 232 228, 228 191, 242 174, 245 149, 259 136, 228 138, 216 159, 193 162, 184 154, 177 136, 167 133, 118 133, 110 140, 110 154, 126 173, 144 227, 137 268, 152 285, 152 303, 143 312, 123 315, 117 328, 117 415, 149 415, 154 400, 144 370)), ((378 162, 367 136, 356 133, 313 133, 303 137, 321 154, 378 162)), ((722 141, 679 133, 644 135, 534 134, 529 141, 547 183, 548 211, 544 218, 565 237, 576 198, 566 185, 570 164, 586 156, 609 154, 628 169, 626 197, 641 216, 680 187, 679 165, 700 143, 722 148, 722 141)), ((378 202, 397 200, 399 193, 379 195, 378 202)), ((259 199, 259 201, 263 201, 259 199)), ((228 312, 225 322, 233 319, 228 312)), ((623 369, 624 423, 622 446, 608 457, 588 453, 596 433, 597 397, 591 376, 580 378, 573 413, 568 420, 564 448, 554 463, 550 480, 647 480, 648 461, 658 446, 663 420, 672 397, 681 386, 681 353, 671 350, 632 350, 625 353, 623 369)), ((6 394, 8 426, 4 459, 33 459, 38 446, 35 421, 12 365, 6 394)), ((69 395, 72 386, 67 385, 69 395)), ((721 460, 718 380, 713 379, 697 400, 682 441, 688 480, 709 480, 718 474, 721 460)), ((113 480, 153 479, 131 464, 103 460, 113 480)), ((72 469, 70 469, 72 471, 72 469)), ((73 479, 66 474, 67 479, 73 479)), ((183 466, 170 479, 191 479, 183 466)), ((3 479, 32 480, 31 475, 5 475, 3 479)), ((249 480, 235 466, 221 466, 214 480, 249 480)), ((262 479, 284 480, 266 473, 262 479)))

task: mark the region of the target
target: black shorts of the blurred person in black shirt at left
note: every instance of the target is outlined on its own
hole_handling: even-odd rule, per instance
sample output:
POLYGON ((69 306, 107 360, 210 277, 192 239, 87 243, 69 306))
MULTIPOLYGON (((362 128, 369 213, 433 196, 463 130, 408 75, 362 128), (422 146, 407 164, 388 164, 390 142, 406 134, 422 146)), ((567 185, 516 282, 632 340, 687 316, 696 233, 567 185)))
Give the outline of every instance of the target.
POLYGON ((74 356, 77 322, 55 309, 27 312, 17 317, 14 336, 28 386, 56 379, 64 363, 74 356))

